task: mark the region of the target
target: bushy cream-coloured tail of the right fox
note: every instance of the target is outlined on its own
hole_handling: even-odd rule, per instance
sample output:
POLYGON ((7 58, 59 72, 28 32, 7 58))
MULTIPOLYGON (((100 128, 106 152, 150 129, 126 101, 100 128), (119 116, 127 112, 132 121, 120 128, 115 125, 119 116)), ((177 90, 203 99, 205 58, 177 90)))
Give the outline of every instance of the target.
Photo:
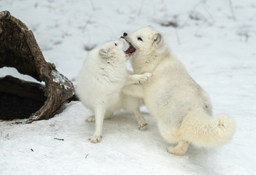
POLYGON ((187 114, 180 131, 183 139, 197 147, 217 147, 232 139, 236 123, 228 114, 211 117, 198 109, 187 114))

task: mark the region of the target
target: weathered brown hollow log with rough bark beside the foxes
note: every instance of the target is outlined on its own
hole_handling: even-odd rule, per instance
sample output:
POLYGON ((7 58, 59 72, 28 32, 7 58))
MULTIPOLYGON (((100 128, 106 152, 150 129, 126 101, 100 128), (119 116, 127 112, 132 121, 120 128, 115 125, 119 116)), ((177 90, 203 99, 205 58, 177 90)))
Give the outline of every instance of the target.
MULTIPOLYGON (((27 120, 20 122, 31 123, 35 120, 49 119, 58 112, 58 109, 61 109, 64 102, 74 96, 74 86, 69 79, 60 74, 53 63, 47 63, 44 60, 33 32, 28 30, 28 27, 20 20, 12 17, 8 11, 0 12, 0 68, 4 66, 14 67, 21 74, 27 74, 40 82, 45 82, 45 87, 42 87, 45 96, 44 104, 27 120)), ((40 96, 37 94, 38 89, 37 91, 28 90, 28 87, 24 87, 26 87, 24 81, 1 79, 0 92, 32 99, 40 96), (11 84, 4 84, 8 81, 11 84), (12 83, 17 85, 12 86, 12 83), (19 85, 23 86, 23 90, 13 89, 19 85)))

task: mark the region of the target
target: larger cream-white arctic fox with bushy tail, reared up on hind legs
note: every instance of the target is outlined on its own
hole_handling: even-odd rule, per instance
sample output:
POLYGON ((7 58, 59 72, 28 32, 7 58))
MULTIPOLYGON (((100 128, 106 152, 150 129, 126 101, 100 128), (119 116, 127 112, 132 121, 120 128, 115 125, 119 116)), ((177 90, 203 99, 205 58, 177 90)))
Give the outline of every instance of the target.
POLYGON ((227 114, 212 116, 206 92, 174 58, 162 34, 147 26, 132 34, 124 33, 123 37, 131 44, 126 53, 132 56, 134 73, 154 75, 141 88, 131 85, 125 91, 144 98, 147 109, 158 122, 160 134, 169 144, 177 144, 168 147, 168 152, 184 155, 190 143, 217 147, 232 138, 234 120, 227 114))

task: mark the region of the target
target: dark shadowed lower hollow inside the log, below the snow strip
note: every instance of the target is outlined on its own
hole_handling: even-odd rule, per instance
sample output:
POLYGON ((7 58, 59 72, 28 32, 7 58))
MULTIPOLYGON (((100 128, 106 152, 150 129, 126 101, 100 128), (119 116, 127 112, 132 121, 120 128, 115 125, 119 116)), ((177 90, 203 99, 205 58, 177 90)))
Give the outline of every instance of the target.
POLYGON ((44 105, 44 85, 6 76, 0 78, 1 120, 24 119, 44 105))

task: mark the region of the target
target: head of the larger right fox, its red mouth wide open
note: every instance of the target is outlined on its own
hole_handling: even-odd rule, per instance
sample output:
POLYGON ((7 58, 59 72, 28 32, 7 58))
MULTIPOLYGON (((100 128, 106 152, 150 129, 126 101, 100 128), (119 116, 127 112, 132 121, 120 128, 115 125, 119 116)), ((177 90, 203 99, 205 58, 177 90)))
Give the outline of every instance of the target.
POLYGON ((123 38, 130 44, 125 53, 132 55, 131 63, 136 73, 150 71, 163 55, 169 53, 168 42, 152 26, 140 28, 131 34, 124 33, 123 38))

